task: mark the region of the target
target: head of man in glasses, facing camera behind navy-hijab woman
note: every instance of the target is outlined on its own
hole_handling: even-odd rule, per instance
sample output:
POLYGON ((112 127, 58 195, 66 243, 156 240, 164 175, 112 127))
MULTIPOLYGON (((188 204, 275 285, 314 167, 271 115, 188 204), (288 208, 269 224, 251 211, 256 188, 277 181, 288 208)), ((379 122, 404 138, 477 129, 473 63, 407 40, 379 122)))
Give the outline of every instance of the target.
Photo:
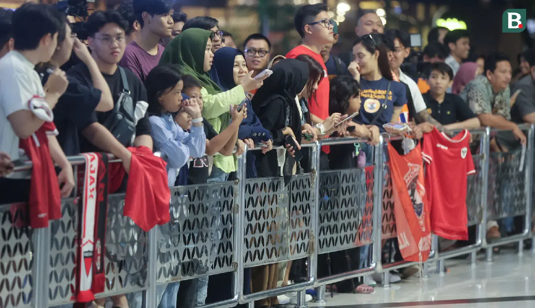
POLYGON ((248 36, 243 42, 243 51, 246 54, 247 68, 252 70, 252 77, 262 73, 270 62, 271 42, 262 34, 255 33, 248 36))

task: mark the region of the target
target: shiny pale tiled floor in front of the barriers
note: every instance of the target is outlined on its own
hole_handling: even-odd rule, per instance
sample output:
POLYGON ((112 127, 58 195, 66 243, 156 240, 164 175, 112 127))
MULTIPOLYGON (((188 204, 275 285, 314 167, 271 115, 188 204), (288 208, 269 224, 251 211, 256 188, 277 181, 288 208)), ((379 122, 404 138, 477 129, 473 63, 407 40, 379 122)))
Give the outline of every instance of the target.
MULTIPOLYGON (((430 266, 430 278, 412 278, 381 286, 373 294, 326 294, 326 306, 342 307, 440 307, 440 308, 535 308, 535 255, 524 251, 502 251, 491 264, 479 255, 472 268, 467 260, 447 260, 448 273, 435 274, 430 266)), ((318 306, 309 303, 309 307, 318 306)))

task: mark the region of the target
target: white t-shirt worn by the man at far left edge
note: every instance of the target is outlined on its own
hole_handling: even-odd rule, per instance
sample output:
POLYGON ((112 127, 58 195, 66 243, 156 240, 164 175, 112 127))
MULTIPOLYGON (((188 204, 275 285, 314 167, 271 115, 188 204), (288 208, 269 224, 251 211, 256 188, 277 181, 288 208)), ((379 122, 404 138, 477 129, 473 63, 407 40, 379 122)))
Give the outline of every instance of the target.
POLYGON ((19 110, 29 110, 34 97, 45 97, 45 91, 34 64, 18 51, 10 51, 0 59, 0 151, 12 160, 19 159, 19 137, 8 116, 19 110))

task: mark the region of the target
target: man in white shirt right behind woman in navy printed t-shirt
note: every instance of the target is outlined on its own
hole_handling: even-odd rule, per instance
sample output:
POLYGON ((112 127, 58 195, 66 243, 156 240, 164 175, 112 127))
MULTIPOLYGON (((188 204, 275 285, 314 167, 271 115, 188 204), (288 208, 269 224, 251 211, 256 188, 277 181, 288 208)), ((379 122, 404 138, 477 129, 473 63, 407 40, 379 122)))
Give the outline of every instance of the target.
MULTIPOLYGON (((403 30, 392 29, 386 31, 385 36, 387 36, 389 40, 392 40, 394 45, 394 49, 390 53, 389 57, 390 69, 399 77, 399 81, 407 84, 409 87, 412 102, 414 104, 414 111, 416 112, 414 117, 420 123, 429 123, 436 127, 439 131, 443 131, 444 128, 442 125, 437 120, 433 119, 431 114, 429 114, 427 111, 427 106, 425 105, 420 88, 418 88, 416 82, 412 80, 411 77, 405 75, 405 73, 403 73, 400 69, 401 64, 403 64, 403 61, 409 56, 410 53, 411 43, 409 34, 403 30)), ((424 133, 427 133, 433 128, 431 125, 420 125, 420 129, 422 129, 424 133)))

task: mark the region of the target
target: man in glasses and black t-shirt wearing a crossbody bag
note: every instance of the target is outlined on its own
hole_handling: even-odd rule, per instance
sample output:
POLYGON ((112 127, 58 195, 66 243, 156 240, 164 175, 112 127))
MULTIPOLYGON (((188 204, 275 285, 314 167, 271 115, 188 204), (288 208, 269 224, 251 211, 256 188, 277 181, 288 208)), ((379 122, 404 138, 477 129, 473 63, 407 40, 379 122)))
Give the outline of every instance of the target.
MULTIPOLYGON (((126 30, 128 22, 123 19, 121 14, 115 10, 95 12, 89 16, 86 28, 88 31, 89 48, 91 55, 104 76, 106 83, 110 87, 114 105, 119 103, 119 97, 123 92, 123 82, 121 71, 119 70, 119 60, 123 57, 126 47, 126 30)), ((140 105, 139 102, 147 101, 147 92, 141 80, 132 73, 132 70, 124 68, 132 106, 134 109, 140 105)), ((67 71, 69 77, 78 79, 84 86, 93 87, 93 80, 88 67, 84 63, 77 64, 67 71)), ((82 127, 82 136, 84 136, 80 150, 82 153, 87 152, 109 152, 118 157, 130 157, 126 147, 128 146, 147 146, 152 149, 152 137, 150 136, 150 123, 147 114, 139 118, 136 123, 136 132, 133 142, 121 144, 105 127, 106 120, 110 112, 93 112, 91 120, 84 123, 82 127)))

